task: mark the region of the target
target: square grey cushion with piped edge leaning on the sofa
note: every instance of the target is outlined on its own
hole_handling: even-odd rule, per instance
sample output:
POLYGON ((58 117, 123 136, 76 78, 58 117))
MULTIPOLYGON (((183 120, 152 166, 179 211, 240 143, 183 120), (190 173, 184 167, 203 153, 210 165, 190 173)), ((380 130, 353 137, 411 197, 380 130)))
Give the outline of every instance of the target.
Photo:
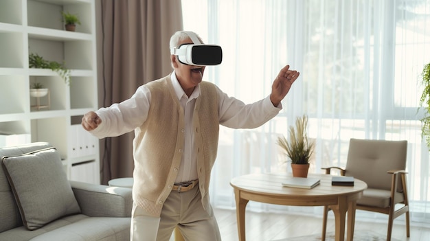
POLYGON ((80 212, 55 148, 3 157, 2 163, 27 229, 80 212))

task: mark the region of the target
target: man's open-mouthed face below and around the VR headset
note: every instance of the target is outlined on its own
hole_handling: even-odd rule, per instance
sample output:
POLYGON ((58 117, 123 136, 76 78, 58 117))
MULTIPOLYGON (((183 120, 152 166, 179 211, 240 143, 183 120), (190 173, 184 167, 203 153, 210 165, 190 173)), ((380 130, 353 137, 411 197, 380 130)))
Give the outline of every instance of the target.
MULTIPOLYGON (((185 39, 179 43, 179 46, 183 44, 192 44, 190 38, 185 39)), ((194 90, 203 78, 203 73, 205 71, 204 66, 194 66, 194 65, 185 65, 179 62, 179 59, 176 56, 170 56, 172 61, 172 66, 174 68, 174 73, 179 80, 179 84, 181 84, 182 89, 187 93, 189 90, 194 90)))

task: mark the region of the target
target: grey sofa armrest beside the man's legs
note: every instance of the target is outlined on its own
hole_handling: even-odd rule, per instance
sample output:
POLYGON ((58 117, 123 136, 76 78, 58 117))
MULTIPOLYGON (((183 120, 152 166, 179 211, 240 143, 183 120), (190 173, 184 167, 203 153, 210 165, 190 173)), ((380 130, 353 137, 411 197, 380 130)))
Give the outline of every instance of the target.
POLYGON ((91 217, 131 217, 131 188, 69 182, 82 214, 91 217))

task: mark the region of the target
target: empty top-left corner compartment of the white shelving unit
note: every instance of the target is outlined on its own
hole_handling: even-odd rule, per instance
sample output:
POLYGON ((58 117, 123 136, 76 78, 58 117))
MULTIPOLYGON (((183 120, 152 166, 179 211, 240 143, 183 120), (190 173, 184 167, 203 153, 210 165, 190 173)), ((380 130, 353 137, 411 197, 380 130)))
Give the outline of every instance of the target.
POLYGON ((22 1, 1 0, 0 1, 0 22, 23 24, 22 1))

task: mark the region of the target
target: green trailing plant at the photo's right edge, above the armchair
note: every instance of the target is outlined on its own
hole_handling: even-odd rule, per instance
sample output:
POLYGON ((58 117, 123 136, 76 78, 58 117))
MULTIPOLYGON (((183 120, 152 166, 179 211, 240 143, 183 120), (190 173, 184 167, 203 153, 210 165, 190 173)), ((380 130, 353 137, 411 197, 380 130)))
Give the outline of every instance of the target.
POLYGON ((425 138, 427 148, 430 149, 430 62, 424 66, 421 73, 421 84, 424 87, 420 97, 420 106, 425 108, 421 121, 421 137, 425 138))

